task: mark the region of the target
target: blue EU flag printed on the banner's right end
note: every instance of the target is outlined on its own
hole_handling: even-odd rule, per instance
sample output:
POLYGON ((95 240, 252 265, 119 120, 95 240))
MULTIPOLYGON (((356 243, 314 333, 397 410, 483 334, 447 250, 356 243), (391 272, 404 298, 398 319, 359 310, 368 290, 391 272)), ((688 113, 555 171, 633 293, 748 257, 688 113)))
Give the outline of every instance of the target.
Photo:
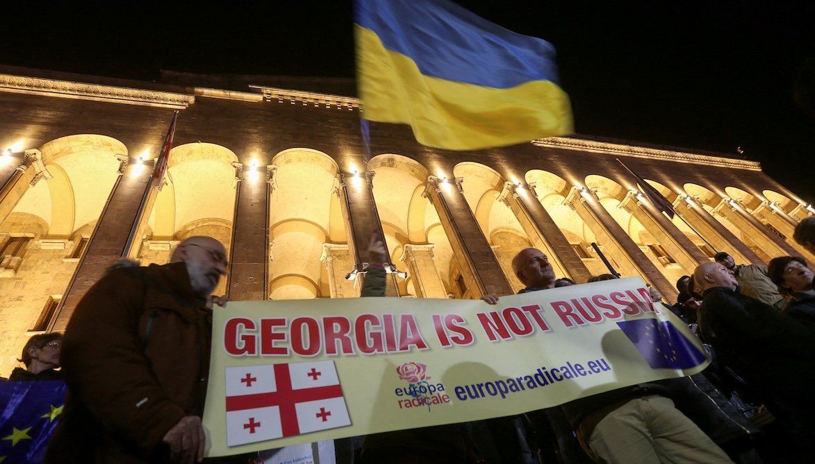
POLYGON ((707 356, 671 322, 647 318, 617 322, 617 326, 652 369, 690 369, 707 361, 707 356))

